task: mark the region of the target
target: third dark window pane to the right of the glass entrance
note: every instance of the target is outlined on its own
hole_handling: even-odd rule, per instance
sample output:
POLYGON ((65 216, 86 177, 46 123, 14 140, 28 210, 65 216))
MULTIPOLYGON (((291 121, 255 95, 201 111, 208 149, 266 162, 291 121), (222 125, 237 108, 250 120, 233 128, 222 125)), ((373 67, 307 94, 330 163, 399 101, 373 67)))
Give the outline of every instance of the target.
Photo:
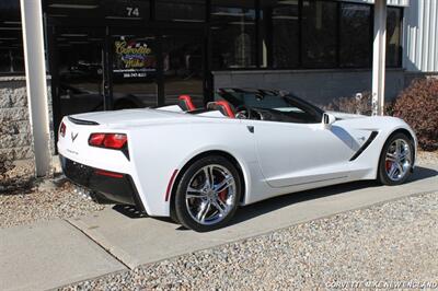
POLYGON ((302 8, 302 62, 309 68, 336 66, 337 3, 303 1, 302 8))

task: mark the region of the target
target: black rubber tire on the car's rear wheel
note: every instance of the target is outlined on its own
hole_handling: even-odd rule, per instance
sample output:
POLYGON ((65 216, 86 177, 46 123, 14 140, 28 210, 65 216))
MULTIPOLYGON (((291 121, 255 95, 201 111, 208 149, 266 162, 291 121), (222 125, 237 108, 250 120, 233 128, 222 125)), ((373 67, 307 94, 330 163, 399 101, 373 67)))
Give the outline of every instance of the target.
MULTIPOLYGON (((205 182, 204 182, 205 183, 205 182)), ((205 185, 204 185, 205 187, 205 185)), ((227 189, 227 195, 229 195, 229 189, 227 189)), ((242 181, 240 178, 239 172, 235 168, 235 166, 226 158, 221 156, 221 155, 210 155, 210 156, 205 156, 201 158, 197 161, 195 161, 192 165, 189 165, 184 173, 182 173, 181 178, 178 179, 178 184, 176 185, 176 191, 175 191, 175 199, 174 199, 174 207, 175 207, 175 214, 176 214, 176 219, 177 221, 184 225, 187 229, 192 229, 196 232, 208 232, 208 231, 212 231, 212 230, 217 230, 220 228, 223 228, 224 225, 227 225, 229 223, 229 221, 232 219, 232 217, 234 216, 237 209, 238 209, 238 205, 240 201, 240 197, 241 197, 241 191, 242 191, 242 181), (223 168, 226 168, 228 171, 228 174, 230 174, 233 178, 233 183, 232 183, 232 193, 233 195, 230 195, 228 197, 230 203, 232 203, 231 206, 229 206, 229 208, 227 208, 227 214, 222 216, 220 219, 220 221, 212 223, 212 224, 203 224, 199 223, 198 221, 196 221, 189 213, 188 210, 188 206, 186 203, 186 195, 187 195, 187 188, 188 188, 188 184, 192 182, 192 179, 196 178, 197 175, 200 175, 200 172, 203 168, 205 168, 206 166, 214 166, 214 165, 219 165, 223 168)), ((191 198, 189 198, 191 199, 191 198)), ((199 199, 199 198, 192 198, 192 199, 199 199)), ((203 198, 204 199, 204 198, 203 198)), ((189 201, 194 201, 194 200, 189 200, 189 201)), ((204 202, 204 200, 199 200, 204 202)), ((206 202, 209 203, 209 202, 206 202)), ((210 207, 212 206, 212 203, 209 203, 209 207, 206 211, 206 214, 208 213, 208 211, 214 211, 214 208, 210 209, 210 207)), ((199 206, 200 208, 200 206, 199 206)))

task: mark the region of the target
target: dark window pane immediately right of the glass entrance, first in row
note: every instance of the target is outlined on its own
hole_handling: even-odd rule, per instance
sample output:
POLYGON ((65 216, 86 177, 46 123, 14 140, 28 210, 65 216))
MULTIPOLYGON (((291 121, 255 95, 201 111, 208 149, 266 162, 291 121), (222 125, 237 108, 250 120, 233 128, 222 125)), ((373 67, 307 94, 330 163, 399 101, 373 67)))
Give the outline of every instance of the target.
POLYGON ((214 69, 255 67, 253 0, 211 1, 214 69))

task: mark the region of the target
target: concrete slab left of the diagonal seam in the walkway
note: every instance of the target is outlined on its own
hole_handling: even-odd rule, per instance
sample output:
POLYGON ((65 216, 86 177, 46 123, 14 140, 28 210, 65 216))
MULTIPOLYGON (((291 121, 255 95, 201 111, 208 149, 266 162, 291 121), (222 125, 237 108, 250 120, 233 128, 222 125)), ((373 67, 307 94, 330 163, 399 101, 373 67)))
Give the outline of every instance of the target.
POLYGON ((0 290, 45 290, 125 268, 64 220, 0 231, 0 290))

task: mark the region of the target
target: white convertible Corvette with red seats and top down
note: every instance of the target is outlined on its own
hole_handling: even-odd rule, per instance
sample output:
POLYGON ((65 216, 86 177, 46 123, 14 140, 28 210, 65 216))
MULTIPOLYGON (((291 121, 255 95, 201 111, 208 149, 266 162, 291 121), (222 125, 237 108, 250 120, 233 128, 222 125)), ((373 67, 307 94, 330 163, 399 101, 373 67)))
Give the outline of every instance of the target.
POLYGON ((277 91, 217 98, 65 117, 64 173, 97 202, 210 231, 239 206, 360 179, 399 185, 414 168, 416 137, 399 118, 325 113, 277 91))

